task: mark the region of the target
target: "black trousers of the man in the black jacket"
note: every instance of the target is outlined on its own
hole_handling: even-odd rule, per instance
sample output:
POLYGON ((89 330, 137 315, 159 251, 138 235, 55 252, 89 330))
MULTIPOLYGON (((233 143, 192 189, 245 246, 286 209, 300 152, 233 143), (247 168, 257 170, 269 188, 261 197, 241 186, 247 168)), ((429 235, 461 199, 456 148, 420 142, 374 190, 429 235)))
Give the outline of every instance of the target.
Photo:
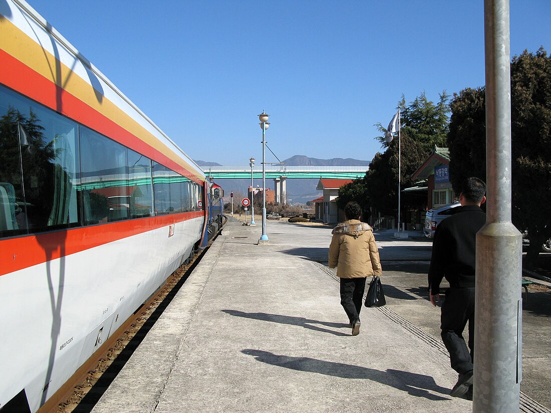
POLYGON ((474 287, 449 288, 441 313, 442 341, 450 353, 451 368, 463 374, 473 369, 474 357, 474 287), (469 347, 463 330, 469 323, 469 347), (469 349, 471 350, 469 352, 469 349))

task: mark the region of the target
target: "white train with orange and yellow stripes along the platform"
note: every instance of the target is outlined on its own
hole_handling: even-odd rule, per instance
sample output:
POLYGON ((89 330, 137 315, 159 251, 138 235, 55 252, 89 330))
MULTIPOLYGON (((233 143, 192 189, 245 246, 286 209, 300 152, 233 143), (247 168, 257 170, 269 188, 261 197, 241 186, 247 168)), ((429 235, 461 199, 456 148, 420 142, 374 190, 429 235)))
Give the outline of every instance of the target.
POLYGON ((223 191, 23 0, 0 62, 0 411, 34 413, 207 247, 223 191))

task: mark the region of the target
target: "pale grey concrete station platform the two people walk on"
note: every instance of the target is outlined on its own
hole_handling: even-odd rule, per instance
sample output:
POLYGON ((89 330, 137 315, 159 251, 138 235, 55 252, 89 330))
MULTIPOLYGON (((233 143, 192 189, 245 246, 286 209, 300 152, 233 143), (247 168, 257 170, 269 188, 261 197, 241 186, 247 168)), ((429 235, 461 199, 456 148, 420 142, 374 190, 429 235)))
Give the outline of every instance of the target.
MULTIPOLYGON (((457 376, 426 300, 430 241, 376 233, 387 306, 364 308, 351 336, 326 266, 331 229, 267 228, 269 245, 258 246, 260 226, 225 227, 94 412, 471 411, 449 396, 457 376)), ((541 331, 530 323, 530 335, 541 331)), ((543 367, 525 361, 524 378, 548 384, 549 335, 538 337, 532 350, 525 336, 524 360, 536 351, 543 367)), ((522 388, 523 411, 548 412, 532 388, 522 388)))

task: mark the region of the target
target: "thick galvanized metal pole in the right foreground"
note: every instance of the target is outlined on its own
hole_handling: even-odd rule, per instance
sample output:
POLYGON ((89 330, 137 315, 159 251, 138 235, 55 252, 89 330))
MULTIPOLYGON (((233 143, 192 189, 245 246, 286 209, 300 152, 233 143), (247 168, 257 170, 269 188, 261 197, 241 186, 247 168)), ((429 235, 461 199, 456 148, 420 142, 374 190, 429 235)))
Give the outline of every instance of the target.
POLYGON ((486 224, 477 234, 473 413, 518 413, 522 237, 511 222, 509 0, 484 1, 486 224))

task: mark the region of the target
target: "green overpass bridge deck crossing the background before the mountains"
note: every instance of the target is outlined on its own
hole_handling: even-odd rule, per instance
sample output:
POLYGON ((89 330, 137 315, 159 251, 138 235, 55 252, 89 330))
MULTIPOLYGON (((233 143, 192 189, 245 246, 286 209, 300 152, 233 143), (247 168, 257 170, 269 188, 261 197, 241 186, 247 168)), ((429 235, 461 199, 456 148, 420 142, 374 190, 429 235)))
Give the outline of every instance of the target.
MULTIPOLYGON (((335 178, 355 179, 363 178, 367 166, 266 166, 266 178, 335 178)), ((207 177, 217 179, 246 179, 251 178, 249 166, 203 166, 207 177)), ((262 178, 262 165, 252 169, 253 178, 262 178)))

